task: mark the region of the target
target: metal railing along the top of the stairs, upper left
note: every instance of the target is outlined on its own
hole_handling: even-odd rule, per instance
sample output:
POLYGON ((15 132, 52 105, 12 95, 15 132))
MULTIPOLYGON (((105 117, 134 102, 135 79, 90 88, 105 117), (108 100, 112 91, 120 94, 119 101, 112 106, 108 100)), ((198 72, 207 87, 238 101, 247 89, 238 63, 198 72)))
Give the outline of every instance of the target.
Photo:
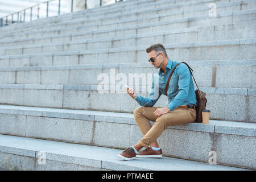
MULTIPOLYGON (((107 0, 107 1, 92 0, 94 2, 94 5, 96 6, 92 6, 89 8, 88 8, 88 3, 92 1, 90 0, 81 0, 81 1, 84 1, 84 3, 80 7, 80 9, 77 11, 81 11, 82 9, 89 9, 93 7, 103 6, 103 5, 109 5, 111 3, 117 3, 125 0, 107 0)), ((73 0, 50 0, 42 3, 38 3, 37 5, 27 7, 26 9, 23 9, 16 13, 3 16, 0 19, 0 25, 1 27, 3 27, 13 23, 30 22, 32 20, 39 19, 39 18, 47 18, 49 16, 72 13, 74 11, 73 5, 74 5, 73 0), (64 1, 65 1, 65 4, 63 4, 64 1), (69 3, 67 3, 68 1, 69 3), (51 8, 49 7, 49 5, 51 5, 51 8), (70 8, 68 8, 69 6, 70 8)))

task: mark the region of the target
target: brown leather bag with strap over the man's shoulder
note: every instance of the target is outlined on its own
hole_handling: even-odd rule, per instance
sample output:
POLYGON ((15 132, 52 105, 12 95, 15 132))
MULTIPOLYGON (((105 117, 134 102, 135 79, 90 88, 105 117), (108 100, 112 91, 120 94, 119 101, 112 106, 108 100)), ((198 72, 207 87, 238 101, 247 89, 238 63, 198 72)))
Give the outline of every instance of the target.
MULTIPOLYGON (((185 63, 185 62, 181 62, 181 63, 186 64, 186 65, 188 66, 190 72, 193 71, 193 69, 191 69, 187 63, 185 63)), ((178 64, 174 67, 174 69, 172 69, 171 75, 169 76, 168 81, 167 81, 167 84, 166 84, 166 93, 167 93, 167 90, 168 90, 169 82, 170 82, 171 77, 172 77, 172 73, 174 73, 175 68, 176 68, 179 64, 180 64, 180 63, 178 63, 178 64)), ((193 76, 192 72, 191 72, 191 75, 193 76)), ((195 83, 196 83, 196 80, 195 80, 194 76, 193 76, 193 79, 194 79, 194 81, 195 81, 195 83)), ((196 86, 197 86, 197 84, 196 84, 196 86)), ((197 90, 195 90, 195 94, 196 94, 196 100, 197 100, 197 104, 198 104, 198 105, 196 106, 196 121, 195 121, 195 122, 201 123, 201 122, 203 122, 202 111, 205 109, 206 104, 207 104, 207 98, 205 97, 205 96, 206 96, 206 93, 203 92, 203 91, 201 91, 201 90, 199 90, 199 88, 198 88, 198 86, 197 86, 197 90)))

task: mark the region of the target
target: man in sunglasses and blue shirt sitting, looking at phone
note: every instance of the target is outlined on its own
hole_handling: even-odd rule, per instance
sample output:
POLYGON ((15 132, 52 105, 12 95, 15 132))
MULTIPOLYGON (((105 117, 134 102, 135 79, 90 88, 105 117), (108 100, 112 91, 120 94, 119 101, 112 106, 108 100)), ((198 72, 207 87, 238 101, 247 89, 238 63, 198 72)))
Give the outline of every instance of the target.
POLYGON ((158 85, 155 86, 155 78, 152 79, 151 92, 148 98, 136 96, 135 90, 127 87, 127 93, 139 107, 134 110, 134 118, 143 138, 137 144, 127 148, 118 154, 119 158, 131 160, 137 158, 160 158, 162 150, 156 142, 156 139, 163 133, 167 126, 184 125, 195 122, 197 100, 193 80, 189 68, 185 64, 176 67, 166 93, 165 87, 172 69, 179 62, 168 58, 166 49, 162 44, 154 44, 146 49, 150 64, 160 68, 158 72, 158 85), (158 97, 151 99, 158 93, 158 97), (153 107, 161 94, 168 98, 166 107, 153 107), (155 122, 152 126, 150 121, 155 122), (141 148, 146 148, 138 152, 141 148))

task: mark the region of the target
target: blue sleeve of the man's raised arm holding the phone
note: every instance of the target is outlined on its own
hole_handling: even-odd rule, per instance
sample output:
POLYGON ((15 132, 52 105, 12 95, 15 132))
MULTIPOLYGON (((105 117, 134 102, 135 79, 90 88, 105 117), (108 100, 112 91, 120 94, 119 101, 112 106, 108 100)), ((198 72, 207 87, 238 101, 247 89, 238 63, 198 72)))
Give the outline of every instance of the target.
POLYGON ((139 105, 152 107, 158 101, 162 93, 159 91, 159 87, 155 85, 156 78, 155 76, 152 78, 152 86, 151 86, 150 93, 148 94, 148 97, 137 96, 137 98, 135 99, 135 101, 137 101, 139 105))

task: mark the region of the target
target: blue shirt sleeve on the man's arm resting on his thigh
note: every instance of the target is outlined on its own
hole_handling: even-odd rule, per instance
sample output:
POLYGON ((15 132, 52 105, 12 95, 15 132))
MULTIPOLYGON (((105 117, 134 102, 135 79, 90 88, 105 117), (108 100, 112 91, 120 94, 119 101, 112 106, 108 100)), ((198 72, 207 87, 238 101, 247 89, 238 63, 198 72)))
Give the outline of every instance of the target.
MULTIPOLYGON (((183 100, 188 97, 189 93, 189 84, 190 84, 190 71, 187 65, 180 64, 176 68, 176 73, 179 76, 178 86, 179 86, 179 92, 176 94, 174 99, 167 105, 167 107, 173 111, 178 106, 181 105, 183 100)), ((171 83, 170 83, 171 85, 171 83)))

